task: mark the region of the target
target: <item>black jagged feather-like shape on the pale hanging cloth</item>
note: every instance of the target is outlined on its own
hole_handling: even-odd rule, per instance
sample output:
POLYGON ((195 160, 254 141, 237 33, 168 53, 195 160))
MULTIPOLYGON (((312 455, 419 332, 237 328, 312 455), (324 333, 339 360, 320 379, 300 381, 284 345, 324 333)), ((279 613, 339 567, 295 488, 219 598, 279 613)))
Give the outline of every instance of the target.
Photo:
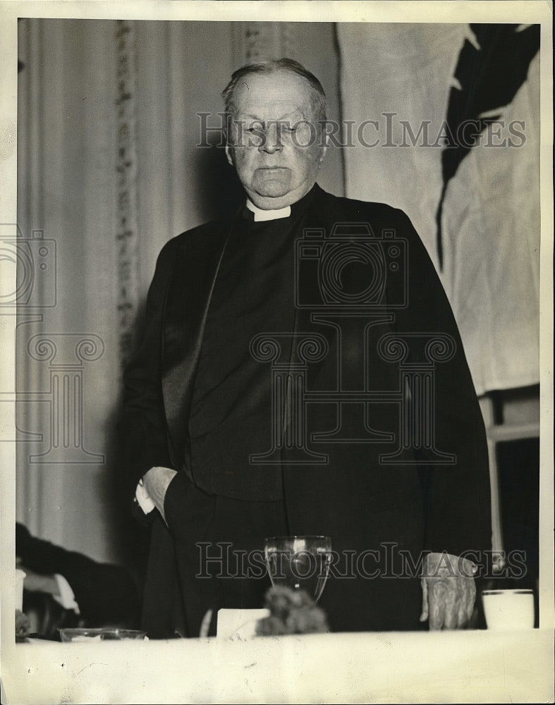
MULTIPOLYGON (((441 153, 443 186, 436 213, 437 254, 443 268, 441 216, 447 185, 461 161, 477 143, 478 135, 499 120, 502 109, 515 97, 526 80, 530 61, 539 50, 539 25, 518 31, 520 25, 470 25, 478 46, 465 39, 455 70, 456 86, 451 87, 446 116, 447 144, 441 153), (496 114, 492 114, 496 111, 496 114), (487 115, 487 116, 486 116, 487 115), (465 121, 475 121, 475 135, 461 144, 453 135, 465 121)), ((470 137, 470 135, 469 135, 470 137)))

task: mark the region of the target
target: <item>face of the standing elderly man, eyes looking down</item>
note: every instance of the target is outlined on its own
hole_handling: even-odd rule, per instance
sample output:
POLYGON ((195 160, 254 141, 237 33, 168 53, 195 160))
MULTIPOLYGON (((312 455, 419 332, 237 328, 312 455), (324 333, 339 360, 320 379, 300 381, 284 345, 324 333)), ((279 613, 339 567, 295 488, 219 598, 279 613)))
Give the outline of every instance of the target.
POLYGON ((236 87, 226 154, 259 208, 291 205, 315 183, 326 147, 310 90, 300 76, 281 71, 247 75, 236 87))

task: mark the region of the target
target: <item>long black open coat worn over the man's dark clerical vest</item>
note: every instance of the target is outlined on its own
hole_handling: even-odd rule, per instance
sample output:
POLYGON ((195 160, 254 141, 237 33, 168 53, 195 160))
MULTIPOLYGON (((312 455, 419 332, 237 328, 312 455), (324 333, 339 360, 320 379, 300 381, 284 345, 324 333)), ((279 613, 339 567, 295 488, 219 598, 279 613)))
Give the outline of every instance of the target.
MULTIPOLYGON (((188 476, 188 520, 198 509, 199 525, 194 494, 204 498, 212 488, 194 475, 190 412, 214 282, 239 218, 164 246, 145 337, 125 377, 130 496, 150 467, 173 467, 188 476)), ((491 548, 486 436, 463 345, 403 212, 315 186, 304 228, 295 245, 292 332, 312 343, 296 348, 290 363, 304 366, 309 403, 300 450, 291 405, 284 415, 293 437, 279 449, 288 529, 330 536, 341 557, 320 602, 333 630, 415 629, 422 551, 472 551, 480 562, 491 548)), ((175 496, 171 505, 175 517, 175 496)), ((263 544, 264 536, 255 538, 263 544)), ((154 513, 143 610, 152 636, 173 635, 183 622, 181 551, 154 513)))

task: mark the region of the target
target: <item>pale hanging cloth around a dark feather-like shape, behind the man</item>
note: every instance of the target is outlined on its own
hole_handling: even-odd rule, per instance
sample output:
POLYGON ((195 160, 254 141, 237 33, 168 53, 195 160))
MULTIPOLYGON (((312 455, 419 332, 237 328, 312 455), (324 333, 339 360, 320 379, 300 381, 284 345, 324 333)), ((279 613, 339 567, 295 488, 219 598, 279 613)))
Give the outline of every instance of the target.
MULTIPOLYGON (((354 124, 346 195, 405 210, 439 269, 442 124, 463 44, 480 44, 466 24, 339 23, 338 35, 354 124), (364 121, 374 123, 360 131, 364 121)), ((447 185, 442 219, 441 278, 477 393, 539 381, 539 54, 496 107, 499 123, 447 185)))

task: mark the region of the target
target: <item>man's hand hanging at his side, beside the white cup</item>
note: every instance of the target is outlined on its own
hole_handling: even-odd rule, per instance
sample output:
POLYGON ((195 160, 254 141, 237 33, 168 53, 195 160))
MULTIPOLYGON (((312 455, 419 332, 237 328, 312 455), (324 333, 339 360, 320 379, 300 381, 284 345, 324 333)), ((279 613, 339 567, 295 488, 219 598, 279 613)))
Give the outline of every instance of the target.
POLYGON ((430 630, 461 629, 472 617, 476 587, 475 565, 450 553, 426 556, 422 584, 422 614, 430 630))

